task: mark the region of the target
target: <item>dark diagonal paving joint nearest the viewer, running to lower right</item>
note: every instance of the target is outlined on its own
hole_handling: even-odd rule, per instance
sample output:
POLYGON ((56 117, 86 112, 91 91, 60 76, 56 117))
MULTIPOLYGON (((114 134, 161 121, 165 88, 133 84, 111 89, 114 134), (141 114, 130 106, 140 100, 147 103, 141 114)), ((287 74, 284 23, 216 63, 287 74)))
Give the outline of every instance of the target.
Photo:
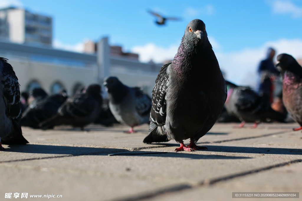
POLYGON ((245 171, 245 172, 241 172, 241 173, 237 173, 237 174, 231 174, 231 175, 228 175, 228 176, 219 177, 219 178, 215 178, 215 179, 206 179, 206 180, 203 180, 203 181, 199 182, 196 185, 179 184, 179 185, 175 185, 175 186, 172 186, 172 187, 160 189, 160 190, 157 190, 157 191, 141 194, 141 195, 138 195, 138 196, 132 196, 132 197, 121 198, 121 199, 113 199, 111 201, 137 201, 137 200, 155 198, 155 197, 161 196, 163 194, 174 193, 174 192, 184 191, 184 190, 188 190, 188 189, 203 187, 203 186, 210 186, 210 185, 214 185, 216 183, 222 182, 222 181, 228 181, 228 180, 231 180, 231 179, 234 179, 234 178, 243 177, 243 176, 246 176, 246 175, 255 174, 255 173, 258 173, 258 172, 267 171, 267 170, 270 170, 270 169, 273 169, 273 168, 279 168, 279 167, 283 167, 283 166, 286 166, 286 165, 299 163, 299 162, 302 162, 302 159, 296 159, 296 160, 292 160, 292 161, 288 161, 288 162, 279 163, 279 164, 276 164, 276 165, 270 165, 270 166, 267 166, 267 167, 264 167, 264 168, 257 168, 257 169, 254 169, 254 170, 245 171))

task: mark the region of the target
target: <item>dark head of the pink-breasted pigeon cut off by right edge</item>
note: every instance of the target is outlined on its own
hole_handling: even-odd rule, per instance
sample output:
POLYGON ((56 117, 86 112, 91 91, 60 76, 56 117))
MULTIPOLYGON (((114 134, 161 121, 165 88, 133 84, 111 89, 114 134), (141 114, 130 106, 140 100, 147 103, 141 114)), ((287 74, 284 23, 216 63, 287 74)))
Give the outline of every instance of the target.
POLYGON ((293 71, 294 68, 301 68, 296 59, 288 54, 280 54, 277 56, 276 68, 281 71, 293 71))

